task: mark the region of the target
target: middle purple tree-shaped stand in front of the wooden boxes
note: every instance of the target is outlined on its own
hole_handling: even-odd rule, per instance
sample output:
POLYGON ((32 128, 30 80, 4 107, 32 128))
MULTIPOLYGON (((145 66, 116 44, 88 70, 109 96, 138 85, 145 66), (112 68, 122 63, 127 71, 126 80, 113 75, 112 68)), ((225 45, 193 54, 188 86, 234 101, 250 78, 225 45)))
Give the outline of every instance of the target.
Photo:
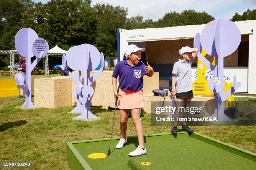
POLYGON ((77 97, 77 109, 76 107, 74 109, 79 110, 81 108, 82 114, 75 117, 74 120, 97 120, 98 117, 93 115, 90 111, 90 98, 94 93, 94 90, 90 85, 104 70, 105 64, 103 53, 100 53, 93 45, 82 44, 71 47, 62 61, 61 69, 77 83, 76 92, 72 91, 72 94, 77 97), (79 72, 77 77, 74 77, 74 75, 64 67, 66 61, 71 69, 79 72), (99 64, 101 65, 100 70, 90 77, 90 71, 95 70, 99 64), (82 72, 84 73, 83 83, 81 82, 82 72))

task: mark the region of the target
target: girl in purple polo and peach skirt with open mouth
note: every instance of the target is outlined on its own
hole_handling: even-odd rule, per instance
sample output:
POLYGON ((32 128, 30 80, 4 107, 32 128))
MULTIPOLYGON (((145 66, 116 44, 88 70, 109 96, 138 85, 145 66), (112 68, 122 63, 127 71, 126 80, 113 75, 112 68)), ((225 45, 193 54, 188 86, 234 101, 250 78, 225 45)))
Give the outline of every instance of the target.
POLYGON ((116 148, 123 148, 127 143, 126 130, 128 112, 131 110, 133 124, 136 128, 139 146, 129 156, 139 156, 146 154, 144 146, 143 127, 140 121, 140 108, 144 107, 144 101, 141 89, 143 87, 143 76, 151 77, 154 74, 153 68, 139 61, 141 59, 141 51, 145 48, 138 48, 131 44, 125 50, 127 60, 118 62, 112 75, 112 86, 115 97, 119 98, 117 108, 120 109, 120 129, 122 138, 116 145, 116 148), (119 76, 120 94, 116 92, 117 77, 119 76))

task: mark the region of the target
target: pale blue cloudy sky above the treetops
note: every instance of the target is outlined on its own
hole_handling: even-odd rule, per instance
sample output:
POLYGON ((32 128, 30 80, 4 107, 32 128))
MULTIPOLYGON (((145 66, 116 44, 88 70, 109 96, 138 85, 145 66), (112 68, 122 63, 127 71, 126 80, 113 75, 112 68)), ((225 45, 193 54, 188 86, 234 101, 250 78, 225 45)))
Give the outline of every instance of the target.
MULTIPOLYGON (((33 0, 47 3, 49 0, 33 0)), ((197 12, 205 11, 215 19, 231 19, 235 13, 243 14, 247 9, 256 9, 256 0, 92 0, 92 6, 111 4, 128 8, 128 18, 143 16, 143 19, 158 20, 165 13, 193 9, 197 12)))

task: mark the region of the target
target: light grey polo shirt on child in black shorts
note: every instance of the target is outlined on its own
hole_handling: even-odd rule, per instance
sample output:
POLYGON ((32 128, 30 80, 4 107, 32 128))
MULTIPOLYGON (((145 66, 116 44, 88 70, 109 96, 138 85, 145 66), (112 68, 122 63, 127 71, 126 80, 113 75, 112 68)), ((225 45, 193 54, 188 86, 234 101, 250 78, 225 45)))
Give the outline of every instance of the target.
POLYGON ((172 74, 176 74, 176 92, 188 92, 193 90, 192 85, 192 69, 191 65, 193 60, 188 60, 185 62, 184 60, 179 59, 179 61, 175 62, 172 74))

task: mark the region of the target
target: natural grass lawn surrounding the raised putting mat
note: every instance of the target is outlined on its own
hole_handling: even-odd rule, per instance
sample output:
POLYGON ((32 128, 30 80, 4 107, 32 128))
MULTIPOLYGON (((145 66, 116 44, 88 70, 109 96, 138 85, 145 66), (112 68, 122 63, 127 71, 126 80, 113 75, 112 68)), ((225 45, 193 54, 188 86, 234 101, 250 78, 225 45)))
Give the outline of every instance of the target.
MULTIPOLYGON (((32 76, 32 95, 33 78, 44 76, 32 76)), ((3 77, 5 76, 0 79, 3 77)), ((32 169, 36 170, 69 170, 66 161, 66 141, 110 138, 113 110, 91 107, 92 112, 101 117, 100 120, 74 121, 72 117, 77 115, 67 113, 74 108, 72 106, 57 109, 14 108, 22 105, 24 101, 16 97, 0 98, 0 161, 31 161, 32 169)), ((115 118, 113 137, 120 136, 118 113, 119 111, 115 118)), ((143 116, 145 134, 170 132, 171 127, 151 126, 150 113, 144 113, 143 116)), ((256 126, 194 126, 191 128, 197 133, 256 153, 256 126)), ((131 119, 128 120, 127 135, 136 135, 131 119)), ((107 151, 108 148, 106 153, 107 151)))

